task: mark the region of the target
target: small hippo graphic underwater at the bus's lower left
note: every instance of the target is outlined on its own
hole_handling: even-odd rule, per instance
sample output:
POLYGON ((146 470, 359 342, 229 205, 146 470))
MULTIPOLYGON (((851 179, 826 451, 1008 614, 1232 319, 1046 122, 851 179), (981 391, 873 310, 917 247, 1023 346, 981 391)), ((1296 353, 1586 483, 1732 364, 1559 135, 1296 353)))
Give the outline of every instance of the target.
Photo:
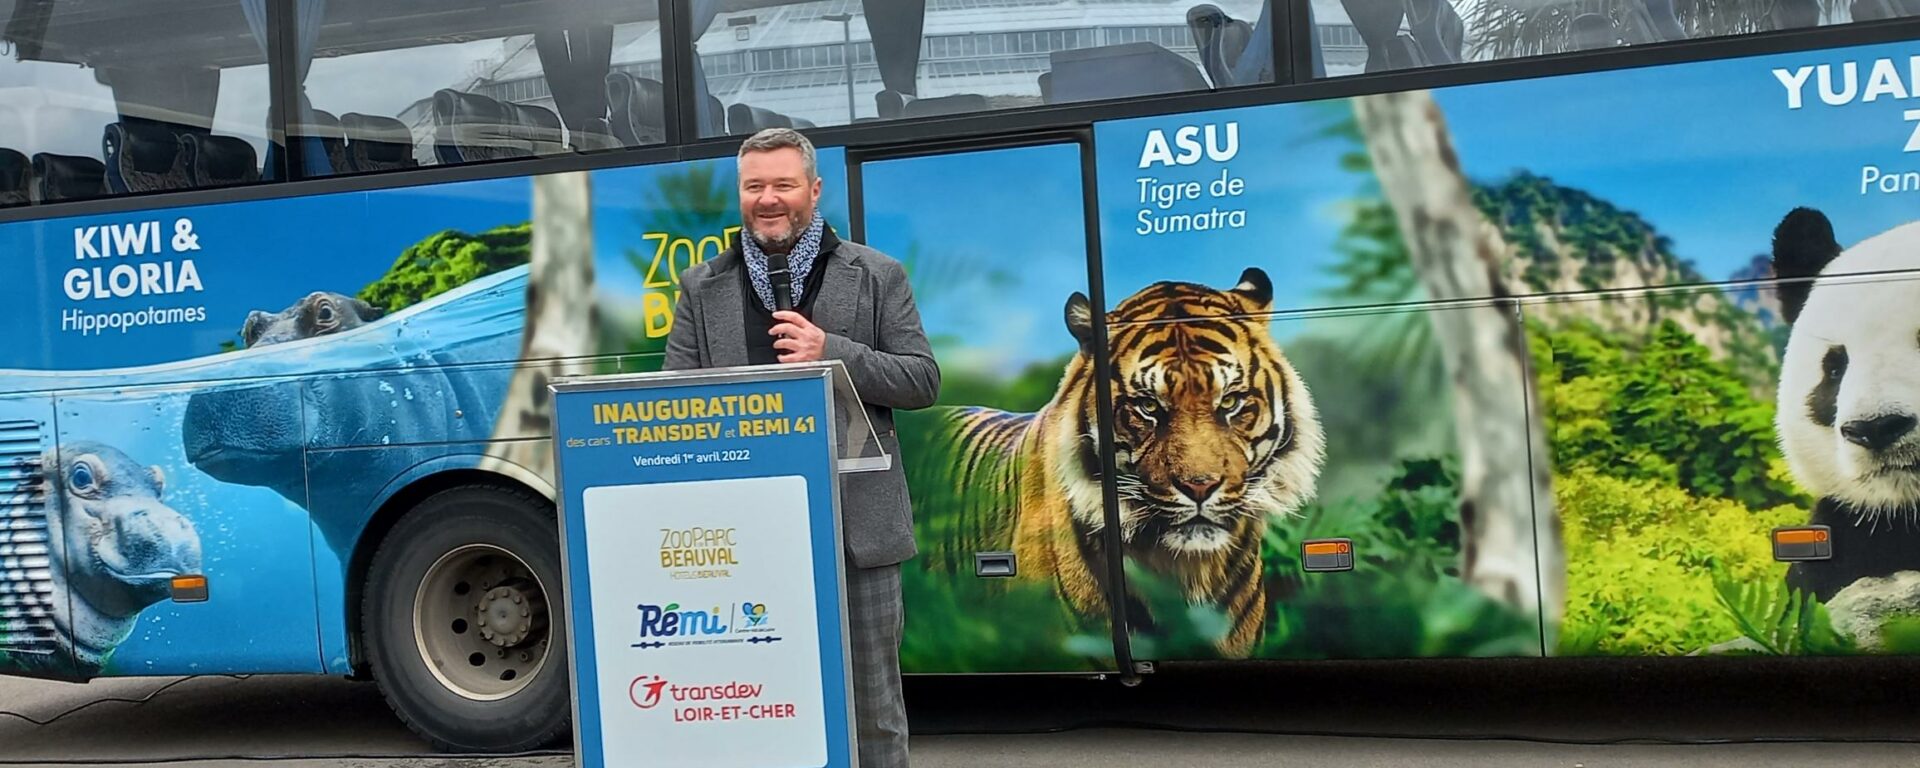
POLYGON ((0 530, 0 593, 21 597, 23 622, 0 624, 15 664, 58 664, 94 676, 132 634, 140 612, 200 574, 200 534, 165 501, 165 474, 117 447, 67 442, 42 457, 44 530, 0 530), (50 630, 50 632, 48 632, 50 630))

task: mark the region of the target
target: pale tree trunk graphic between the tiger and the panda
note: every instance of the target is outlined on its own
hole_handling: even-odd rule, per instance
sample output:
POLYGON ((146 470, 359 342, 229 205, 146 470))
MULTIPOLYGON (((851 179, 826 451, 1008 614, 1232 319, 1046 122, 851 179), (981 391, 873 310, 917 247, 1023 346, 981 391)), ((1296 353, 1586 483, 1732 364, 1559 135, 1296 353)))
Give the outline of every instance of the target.
MULTIPOLYGON (((1361 96, 1354 111, 1427 296, 1509 296, 1500 269, 1507 244, 1475 207, 1432 96, 1361 96)), ((1519 307, 1476 303, 1428 317, 1459 424, 1461 576, 1498 601, 1538 609, 1551 653, 1565 603, 1565 553, 1519 307)))

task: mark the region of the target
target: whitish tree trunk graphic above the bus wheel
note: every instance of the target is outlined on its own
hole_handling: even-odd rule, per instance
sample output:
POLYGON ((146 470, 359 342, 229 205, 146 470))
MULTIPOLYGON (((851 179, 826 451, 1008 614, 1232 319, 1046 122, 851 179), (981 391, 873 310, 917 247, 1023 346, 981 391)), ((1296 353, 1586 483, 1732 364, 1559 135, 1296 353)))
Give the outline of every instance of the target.
POLYGON ((553 482, 553 376, 588 372, 599 353, 593 300, 593 186, 586 173, 534 177, 534 242, 526 278, 520 365, 482 468, 511 463, 553 482))

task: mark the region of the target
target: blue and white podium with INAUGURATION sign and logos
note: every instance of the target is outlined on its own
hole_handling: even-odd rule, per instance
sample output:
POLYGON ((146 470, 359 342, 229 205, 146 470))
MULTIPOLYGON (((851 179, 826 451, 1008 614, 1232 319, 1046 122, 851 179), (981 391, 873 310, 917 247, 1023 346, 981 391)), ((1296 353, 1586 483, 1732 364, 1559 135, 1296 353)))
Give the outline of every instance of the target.
POLYGON ((549 390, 576 764, 856 766, 839 476, 893 457, 847 369, 549 390))

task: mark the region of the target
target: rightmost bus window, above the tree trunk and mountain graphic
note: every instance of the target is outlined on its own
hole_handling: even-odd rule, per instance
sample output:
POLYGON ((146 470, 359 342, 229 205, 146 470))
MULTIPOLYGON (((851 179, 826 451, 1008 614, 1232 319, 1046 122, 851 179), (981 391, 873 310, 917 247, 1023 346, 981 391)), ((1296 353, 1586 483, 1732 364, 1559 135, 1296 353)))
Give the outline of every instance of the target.
POLYGON ((1311 0, 1313 75, 1340 77, 1891 19, 1916 0, 1311 0))

